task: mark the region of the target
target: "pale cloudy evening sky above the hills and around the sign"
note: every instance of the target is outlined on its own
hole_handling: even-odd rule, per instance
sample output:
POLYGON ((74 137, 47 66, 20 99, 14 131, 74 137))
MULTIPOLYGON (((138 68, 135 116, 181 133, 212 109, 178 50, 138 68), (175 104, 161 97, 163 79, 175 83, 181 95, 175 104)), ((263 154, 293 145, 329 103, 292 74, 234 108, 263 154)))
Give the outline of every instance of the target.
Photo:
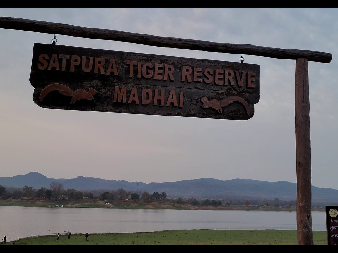
MULTIPOLYGON (((338 189, 338 9, 14 8, 1 17, 154 36, 332 54, 308 62, 312 185, 338 189)), ((240 62, 240 54, 162 48, 55 34, 58 45, 240 62)), ((260 101, 248 120, 45 109, 29 82, 34 43, 53 34, 0 28, 0 177, 129 182, 199 178, 296 182, 295 60, 260 65, 260 101)))

